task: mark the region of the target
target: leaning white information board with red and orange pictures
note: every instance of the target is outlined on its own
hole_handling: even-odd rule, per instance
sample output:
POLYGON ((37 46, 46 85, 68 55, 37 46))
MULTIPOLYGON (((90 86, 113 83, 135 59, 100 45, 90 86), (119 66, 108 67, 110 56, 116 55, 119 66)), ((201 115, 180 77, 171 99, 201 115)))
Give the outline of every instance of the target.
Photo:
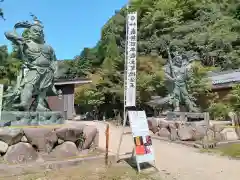
POLYGON ((145 111, 128 111, 128 119, 132 129, 137 163, 155 161, 145 111))

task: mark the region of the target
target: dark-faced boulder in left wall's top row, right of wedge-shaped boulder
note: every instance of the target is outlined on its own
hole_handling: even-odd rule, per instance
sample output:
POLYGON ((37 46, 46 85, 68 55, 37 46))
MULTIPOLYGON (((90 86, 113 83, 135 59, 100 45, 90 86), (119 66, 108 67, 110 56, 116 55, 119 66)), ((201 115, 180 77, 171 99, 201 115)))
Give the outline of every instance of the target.
POLYGON ((84 125, 82 126, 66 126, 59 129, 56 129, 56 135, 59 139, 64 141, 72 141, 76 142, 78 139, 82 138, 83 136, 83 129, 84 125))

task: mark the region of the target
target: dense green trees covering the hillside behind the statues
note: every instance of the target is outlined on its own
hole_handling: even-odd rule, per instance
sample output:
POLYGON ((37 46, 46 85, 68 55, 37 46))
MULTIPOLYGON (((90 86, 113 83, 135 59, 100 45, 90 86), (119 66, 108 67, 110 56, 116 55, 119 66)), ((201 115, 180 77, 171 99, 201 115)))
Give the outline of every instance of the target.
MULTIPOLYGON (((125 23, 128 11, 138 12, 137 104, 147 108, 152 96, 164 97, 163 65, 166 46, 181 53, 198 54, 188 84, 191 93, 215 97, 206 73, 240 67, 239 0, 133 0, 103 26, 101 39, 93 48, 84 48, 72 61, 65 61, 69 77, 89 77, 93 83, 76 88, 75 104, 82 110, 92 109, 101 116, 113 117, 123 110, 123 70, 125 23)), ((13 54, 0 48, 0 77, 11 82, 19 68, 13 54)), ((207 98, 208 99, 208 98, 207 98)), ((200 102, 202 110, 218 107, 214 98, 200 102), (213 106, 214 105, 214 106, 213 106)), ((224 110, 225 110, 224 109, 224 110)))

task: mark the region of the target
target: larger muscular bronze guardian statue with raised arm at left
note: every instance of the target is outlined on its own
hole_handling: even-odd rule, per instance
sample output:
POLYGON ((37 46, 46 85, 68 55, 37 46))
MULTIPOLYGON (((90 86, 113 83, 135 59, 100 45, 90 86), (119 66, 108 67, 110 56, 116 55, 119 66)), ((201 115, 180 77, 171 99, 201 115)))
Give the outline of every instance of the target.
POLYGON ((45 44, 43 25, 36 18, 34 23, 19 22, 15 24, 14 31, 6 32, 5 36, 18 49, 23 62, 17 85, 11 94, 19 96, 20 102, 17 104, 14 102, 13 107, 24 111, 50 110, 46 96, 49 91, 58 94, 53 82, 57 63, 53 48, 45 44), (25 28, 25 36, 19 36, 16 33, 17 28, 25 28), (35 97, 33 103, 32 97, 35 97))

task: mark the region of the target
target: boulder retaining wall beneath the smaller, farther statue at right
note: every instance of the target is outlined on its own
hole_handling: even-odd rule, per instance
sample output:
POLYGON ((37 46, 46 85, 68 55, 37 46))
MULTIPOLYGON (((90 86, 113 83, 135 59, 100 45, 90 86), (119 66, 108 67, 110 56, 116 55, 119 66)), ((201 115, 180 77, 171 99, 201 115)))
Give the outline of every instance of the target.
POLYGON ((148 119, 149 129, 157 136, 175 141, 225 141, 224 125, 207 121, 167 121, 165 118, 148 119))

